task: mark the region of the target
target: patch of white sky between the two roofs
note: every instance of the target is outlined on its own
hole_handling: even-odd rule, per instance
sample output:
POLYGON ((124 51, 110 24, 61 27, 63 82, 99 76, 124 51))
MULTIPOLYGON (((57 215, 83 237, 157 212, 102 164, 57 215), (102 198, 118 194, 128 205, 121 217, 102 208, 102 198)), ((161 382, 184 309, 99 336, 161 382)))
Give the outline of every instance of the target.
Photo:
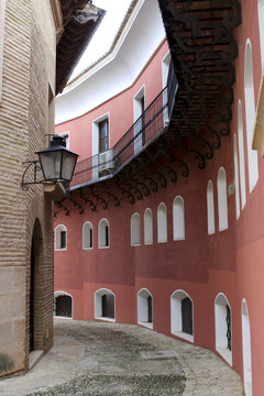
POLYGON ((74 69, 70 79, 108 52, 124 19, 131 0, 94 0, 92 4, 106 10, 106 14, 91 38, 87 50, 74 69))

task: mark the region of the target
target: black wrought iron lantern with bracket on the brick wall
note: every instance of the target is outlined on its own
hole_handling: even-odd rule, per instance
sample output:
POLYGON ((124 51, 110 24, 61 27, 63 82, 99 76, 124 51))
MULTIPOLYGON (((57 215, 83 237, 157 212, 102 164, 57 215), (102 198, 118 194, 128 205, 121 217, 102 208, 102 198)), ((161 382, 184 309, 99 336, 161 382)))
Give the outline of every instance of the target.
POLYGON ((36 153, 38 161, 29 161, 22 177, 22 188, 28 190, 32 184, 63 183, 69 184, 78 155, 66 148, 62 136, 53 136, 50 147, 36 153), (33 167, 33 180, 25 182, 28 170, 33 167), (42 178, 40 172, 42 172, 42 178))

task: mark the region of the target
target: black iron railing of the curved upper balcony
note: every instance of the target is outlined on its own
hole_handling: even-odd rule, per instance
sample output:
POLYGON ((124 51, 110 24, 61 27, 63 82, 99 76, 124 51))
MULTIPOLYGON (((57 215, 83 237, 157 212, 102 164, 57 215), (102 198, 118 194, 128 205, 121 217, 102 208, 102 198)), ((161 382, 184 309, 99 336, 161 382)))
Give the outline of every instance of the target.
POLYGON ((77 163, 70 189, 113 177, 141 151, 153 143, 168 127, 177 91, 177 80, 169 67, 168 85, 116 145, 105 152, 77 163))

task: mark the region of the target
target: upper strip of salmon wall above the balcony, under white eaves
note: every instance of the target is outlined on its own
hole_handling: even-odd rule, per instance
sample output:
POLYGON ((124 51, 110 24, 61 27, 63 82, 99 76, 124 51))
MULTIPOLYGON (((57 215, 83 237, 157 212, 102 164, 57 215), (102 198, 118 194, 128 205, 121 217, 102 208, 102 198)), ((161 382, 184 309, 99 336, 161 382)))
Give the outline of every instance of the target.
POLYGON ((165 41, 148 62, 133 85, 120 95, 110 98, 101 106, 77 119, 56 125, 56 133, 69 132, 69 148, 78 153, 78 161, 92 156, 92 121, 109 113, 110 147, 134 123, 133 97, 145 86, 145 107, 147 107, 163 89, 162 59, 168 53, 165 41), (153 59, 155 62, 153 62, 153 59), (124 117, 125 114, 125 117, 124 117))

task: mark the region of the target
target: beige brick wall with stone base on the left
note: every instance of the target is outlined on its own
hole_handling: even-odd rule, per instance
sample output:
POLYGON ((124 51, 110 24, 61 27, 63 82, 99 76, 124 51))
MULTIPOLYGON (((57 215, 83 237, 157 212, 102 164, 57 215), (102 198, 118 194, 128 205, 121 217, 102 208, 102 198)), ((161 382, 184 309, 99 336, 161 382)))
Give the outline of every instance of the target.
POLYGON ((31 250, 34 241, 34 350, 53 343, 53 202, 43 186, 21 188, 24 161, 45 144, 54 90, 51 6, 7 0, 0 102, 0 376, 29 367, 31 250), (51 87, 51 88, 50 88, 51 87))

